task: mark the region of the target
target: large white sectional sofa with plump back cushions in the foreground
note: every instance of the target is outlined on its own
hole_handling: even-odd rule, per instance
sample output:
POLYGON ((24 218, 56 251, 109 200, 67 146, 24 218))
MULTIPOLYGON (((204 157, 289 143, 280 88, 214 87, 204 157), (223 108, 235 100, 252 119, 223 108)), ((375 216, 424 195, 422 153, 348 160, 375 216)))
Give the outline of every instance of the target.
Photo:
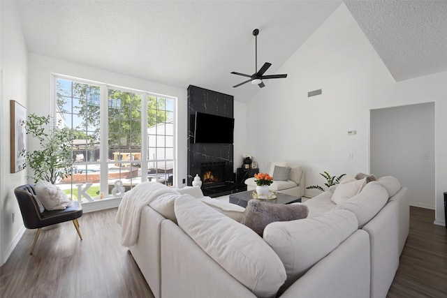
POLYGON ((386 297, 408 235, 406 188, 383 177, 340 204, 332 191, 259 237, 238 223, 242 207, 179 190, 189 194, 170 204, 175 218, 143 207, 130 251, 156 298, 386 297))

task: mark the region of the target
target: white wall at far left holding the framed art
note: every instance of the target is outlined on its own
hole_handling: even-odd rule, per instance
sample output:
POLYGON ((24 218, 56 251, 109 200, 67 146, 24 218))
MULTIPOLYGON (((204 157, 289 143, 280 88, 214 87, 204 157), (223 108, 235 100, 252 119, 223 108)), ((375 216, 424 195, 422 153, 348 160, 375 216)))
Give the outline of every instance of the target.
POLYGON ((25 172, 10 173, 10 100, 27 107, 27 47, 22 35, 17 7, 13 1, 0 1, 1 7, 1 139, 0 139, 0 263, 3 265, 20 240, 22 216, 14 195, 15 186, 26 182, 25 172), (13 213, 15 222, 13 223, 13 213))

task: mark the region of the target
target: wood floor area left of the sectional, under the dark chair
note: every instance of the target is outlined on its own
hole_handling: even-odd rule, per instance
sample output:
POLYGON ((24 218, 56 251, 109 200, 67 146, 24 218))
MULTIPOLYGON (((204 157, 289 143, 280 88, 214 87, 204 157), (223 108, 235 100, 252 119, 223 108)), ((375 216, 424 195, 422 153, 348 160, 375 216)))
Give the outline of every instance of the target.
POLYGON ((83 214, 81 241, 73 223, 27 230, 1 267, 0 297, 154 297, 129 250, 120 244, 117 208, 83 214))

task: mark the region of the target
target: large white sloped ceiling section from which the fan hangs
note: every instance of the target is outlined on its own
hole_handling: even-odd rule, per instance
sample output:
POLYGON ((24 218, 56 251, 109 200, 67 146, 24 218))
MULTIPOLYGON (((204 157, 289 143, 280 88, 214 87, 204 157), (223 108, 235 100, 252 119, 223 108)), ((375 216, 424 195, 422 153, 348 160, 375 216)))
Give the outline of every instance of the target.
MULTIPOLYGON (((249 100, 231 71, 275 71, 342 1, 17 1, 29 52, 249 100)), ((284 79, 287 80, 287 79, 284 79)), ((275 84, 274 80, 265 82, 275 84)))

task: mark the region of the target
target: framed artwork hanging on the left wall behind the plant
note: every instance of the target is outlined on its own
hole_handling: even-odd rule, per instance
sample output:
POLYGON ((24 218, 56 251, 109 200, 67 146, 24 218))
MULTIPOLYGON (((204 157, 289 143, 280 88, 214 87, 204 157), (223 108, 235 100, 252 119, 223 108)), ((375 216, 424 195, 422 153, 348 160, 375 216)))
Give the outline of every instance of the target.
POLYGON ((27 133, 24 126, 22 126, 22 122, 27 120, 27 109, 23 105, 20 105, 20 103, 17 103, 17 101, 10 100, 10 110, 10 161, 11 173, 15 173, 23 170, 25 162, 25 158, 21 153, 25 149, 27 133))

